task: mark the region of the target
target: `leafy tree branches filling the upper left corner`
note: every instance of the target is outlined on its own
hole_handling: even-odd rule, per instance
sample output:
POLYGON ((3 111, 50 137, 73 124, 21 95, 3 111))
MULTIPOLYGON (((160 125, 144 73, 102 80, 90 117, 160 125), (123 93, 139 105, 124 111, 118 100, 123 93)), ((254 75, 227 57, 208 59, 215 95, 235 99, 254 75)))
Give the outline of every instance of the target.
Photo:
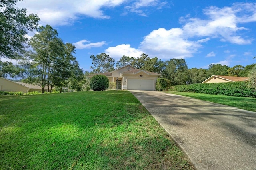
POLYGON ((37 14, 14 7, 20 0, 0 1, 0 57, 20 59, 25 52, 28 31, 38 26, 37 14))

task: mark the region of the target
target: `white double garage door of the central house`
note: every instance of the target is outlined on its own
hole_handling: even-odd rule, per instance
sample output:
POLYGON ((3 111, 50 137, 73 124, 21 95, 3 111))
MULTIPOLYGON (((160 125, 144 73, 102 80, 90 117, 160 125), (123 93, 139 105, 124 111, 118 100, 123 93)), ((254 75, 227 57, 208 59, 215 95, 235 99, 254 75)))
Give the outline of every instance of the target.
POLYGON ((127 79, 128 90, 155 90, 154 79, 127 79))

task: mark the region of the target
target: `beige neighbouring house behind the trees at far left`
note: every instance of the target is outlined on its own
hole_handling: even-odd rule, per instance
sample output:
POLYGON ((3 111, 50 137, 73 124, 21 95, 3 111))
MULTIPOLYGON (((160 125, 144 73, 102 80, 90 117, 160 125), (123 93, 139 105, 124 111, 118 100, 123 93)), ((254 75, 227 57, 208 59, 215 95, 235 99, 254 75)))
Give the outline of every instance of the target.
MULTIPOLYGON (((3 77, 0 77, 0 91, 8 91, 8 92, 18 92, 21 91, 23 93, 38 91, 41 92, 41 87, 37 85, 31 85, 22 82, 15 82, 3 77)), ((45 87, 45 91, 47 91, 47 87, 45 87)))

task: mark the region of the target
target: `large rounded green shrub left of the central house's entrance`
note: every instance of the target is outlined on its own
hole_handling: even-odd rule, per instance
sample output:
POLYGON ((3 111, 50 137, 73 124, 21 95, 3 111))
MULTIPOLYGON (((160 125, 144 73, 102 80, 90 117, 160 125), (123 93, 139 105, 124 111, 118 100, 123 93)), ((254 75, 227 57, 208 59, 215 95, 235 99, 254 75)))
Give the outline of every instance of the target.
POLYGON ((94 75, 90 81, 90 88, 93 91, 106 90, 109 87, 108 77, 105 75, 94 75))

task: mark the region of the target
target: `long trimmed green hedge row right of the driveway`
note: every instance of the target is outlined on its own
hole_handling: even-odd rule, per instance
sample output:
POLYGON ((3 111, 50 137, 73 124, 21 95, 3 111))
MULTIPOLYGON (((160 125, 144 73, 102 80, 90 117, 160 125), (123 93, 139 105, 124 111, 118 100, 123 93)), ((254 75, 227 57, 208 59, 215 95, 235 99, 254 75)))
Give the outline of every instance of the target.
POLYGON ((256 97, 256 90, 249 88, 244 81, 230 83, 203 83, 171 86, 169 91, 206 93, 238 97, 256 97))

